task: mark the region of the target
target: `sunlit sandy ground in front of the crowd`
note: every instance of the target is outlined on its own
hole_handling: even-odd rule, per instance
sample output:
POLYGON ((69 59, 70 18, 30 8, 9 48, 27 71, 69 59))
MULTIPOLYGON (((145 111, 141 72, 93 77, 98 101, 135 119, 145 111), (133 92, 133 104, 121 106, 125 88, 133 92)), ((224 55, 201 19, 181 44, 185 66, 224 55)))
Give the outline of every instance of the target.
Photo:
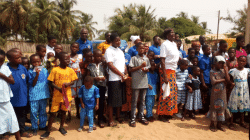
MULTIPOLYGON (((74 106, 74 105, 73 105, 74 106)), ((156 108, 156 106, 155 106, 156 108)), ((119 124, 119 128, 97 127, 92 133, 87 133, 88 124, 85 123, 85 130, 78 132, 80 120, 75 116, 75 109, 72 108, 72 121, 65 124, 65 129, 68 131, 66 136, 63 136, 58 131, 59 119, 53 124, 52 132, 47 140, 247 140, 248 130, 236 125, 236 131, 229 130, 226 126, 226 132, 217 131, 211 132, 208 128, 209 119, 204 115, 198 115, 195 120, 187 119, 181 121, 174 117, 170 123, 155 121, 148 126, 137 123, 135 128, 129 126, 128 122, 119 124)), ((155 112, 156 110, 154 110, 155 112)), ((30 124, 27 124, 30 126, 30 124)), ((39 140, 40 135, 44 131, 39 131, 37 136, 32 138, 23 138, 23 140, 39 140)), ((11 136, 10 140, 14 140, 11 136)))

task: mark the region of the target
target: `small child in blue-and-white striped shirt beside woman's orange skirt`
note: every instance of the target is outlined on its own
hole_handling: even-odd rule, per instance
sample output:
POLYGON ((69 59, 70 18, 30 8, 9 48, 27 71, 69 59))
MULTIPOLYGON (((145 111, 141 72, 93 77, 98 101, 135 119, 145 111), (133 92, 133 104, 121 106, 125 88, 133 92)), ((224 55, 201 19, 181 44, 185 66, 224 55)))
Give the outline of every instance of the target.
POLYGON ((180 68, 176 70, 176 84, 178 88, 177 92, 177 104, 179 105, 179 110, 183 109, 186 102, 186 86, 185 81, 188 78, 188 61, 183 59, 179 61, 180 68))

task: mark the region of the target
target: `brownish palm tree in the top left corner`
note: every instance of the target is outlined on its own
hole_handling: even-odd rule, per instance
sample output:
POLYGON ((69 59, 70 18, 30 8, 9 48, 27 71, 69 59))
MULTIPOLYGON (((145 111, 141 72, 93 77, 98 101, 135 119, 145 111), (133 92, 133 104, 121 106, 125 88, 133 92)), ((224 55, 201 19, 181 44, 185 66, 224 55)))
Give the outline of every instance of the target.
POLYGON ((9 0, 0 2, 0 22, 13 34, 22 35, 28 21, 30 4, 28 0, 9 0))

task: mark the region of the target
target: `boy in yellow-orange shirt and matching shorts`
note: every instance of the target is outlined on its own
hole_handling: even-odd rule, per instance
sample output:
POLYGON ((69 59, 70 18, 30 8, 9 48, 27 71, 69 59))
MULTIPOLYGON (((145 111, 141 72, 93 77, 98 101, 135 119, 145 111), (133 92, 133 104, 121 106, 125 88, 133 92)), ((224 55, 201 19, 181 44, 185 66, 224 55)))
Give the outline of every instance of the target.
POLYGON ((48 77, 50 85, 54 88, 54 91, 52 96, 48 129, 44 134, 41 135, 41 139, 47 138, 50 135, 52 123, 56 116, 56 112, 59 110, 61 110, 61 123, 59 131, 63 135, 67 134, 67 131, 63 128, 63 125, 66 118, 66 112, 70 109, 71 106, 70 102, 72 100, 72 95, 70 86, 74 84, 75 80, 77 80, 77 75, 73 69, 68 67, 70 62, 69 54, 67 54, 66 52, 61 52, 58 55, 58 59, 60 60, 60 66, 53 68, 48 77), (66 102, 67 99, 68 102, 66 102))

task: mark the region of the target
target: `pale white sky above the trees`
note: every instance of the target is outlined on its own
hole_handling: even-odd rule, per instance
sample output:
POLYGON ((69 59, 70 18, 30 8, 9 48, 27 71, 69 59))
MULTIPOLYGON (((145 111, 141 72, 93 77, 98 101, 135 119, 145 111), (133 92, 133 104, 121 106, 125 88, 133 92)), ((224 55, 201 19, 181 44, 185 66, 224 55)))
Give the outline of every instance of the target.
MULTIPOLYGON (((73 10, 92 14, 93 21, 98 22, 94 27, 97 30, 108 29, 109 17, 115 15, 116 8, 123 8, 123 5, 142 4, 146 7, 151 5, 151 9, 156 9, 156 18, 166 17, 170 19, 176 17, 181 11, 191 15, 199 16, 199 22, 207 22, 207 28, 213 34, 217 33, 218 11, 220 16, 226 17, 229 11, 233 17, 237 18, 236 10, 243 9, 247 5, 247 0, 77 0, 73 10)), ((230 32, 234 25, 224 20, 220 20, 219 34, 230 32)))

